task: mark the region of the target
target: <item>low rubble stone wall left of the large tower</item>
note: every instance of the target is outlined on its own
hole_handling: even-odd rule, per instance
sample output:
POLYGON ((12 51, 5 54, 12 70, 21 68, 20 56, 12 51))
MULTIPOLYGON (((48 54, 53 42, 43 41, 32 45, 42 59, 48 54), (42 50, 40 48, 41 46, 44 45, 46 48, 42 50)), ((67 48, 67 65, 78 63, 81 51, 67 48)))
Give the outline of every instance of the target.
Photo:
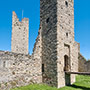
POLYGON ((0 90, 41 83, 41 61, 30 55, 0 51, 0 90))

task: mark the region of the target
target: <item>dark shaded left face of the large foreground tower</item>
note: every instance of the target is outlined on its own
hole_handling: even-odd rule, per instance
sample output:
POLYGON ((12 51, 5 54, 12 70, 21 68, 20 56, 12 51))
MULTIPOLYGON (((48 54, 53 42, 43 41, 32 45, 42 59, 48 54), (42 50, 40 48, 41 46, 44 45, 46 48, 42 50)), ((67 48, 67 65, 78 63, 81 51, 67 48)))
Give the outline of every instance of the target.
POLYGON ((40 0, 43 82, 57 87, 57 0, 40 0))

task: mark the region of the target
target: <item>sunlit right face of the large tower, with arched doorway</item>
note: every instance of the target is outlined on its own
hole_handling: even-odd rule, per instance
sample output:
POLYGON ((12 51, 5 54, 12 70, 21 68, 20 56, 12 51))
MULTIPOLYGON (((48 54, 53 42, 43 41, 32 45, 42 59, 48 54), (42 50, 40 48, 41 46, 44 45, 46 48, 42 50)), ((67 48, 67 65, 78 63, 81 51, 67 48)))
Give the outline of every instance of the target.
POLYGON ((74 40, 73 0, 57 0, 57 43, 58 87, 63 87, 67 85, 68 81, 68 84, 75 82, 75 75, 65 74, 65 62, 68 61, 69 71, 78 71, 79 51, 78 43, 74 40), (68 60, 65 60, 65 56, 68 57, 68 60))

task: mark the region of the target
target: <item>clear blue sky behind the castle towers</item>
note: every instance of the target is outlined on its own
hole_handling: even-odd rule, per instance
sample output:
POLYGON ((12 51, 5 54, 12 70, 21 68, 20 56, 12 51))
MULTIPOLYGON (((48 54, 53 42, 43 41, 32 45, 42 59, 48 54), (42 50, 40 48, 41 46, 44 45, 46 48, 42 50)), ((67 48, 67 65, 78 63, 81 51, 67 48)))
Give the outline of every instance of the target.
MULTIPOLYGON (((0 50, 11 51, 12 11, 29 18, 29 53, 32 53, 40 24, 40 0, 0 0, 0 50)), ((74 0, 75 41, 90 59, 90 0, 74 0)))

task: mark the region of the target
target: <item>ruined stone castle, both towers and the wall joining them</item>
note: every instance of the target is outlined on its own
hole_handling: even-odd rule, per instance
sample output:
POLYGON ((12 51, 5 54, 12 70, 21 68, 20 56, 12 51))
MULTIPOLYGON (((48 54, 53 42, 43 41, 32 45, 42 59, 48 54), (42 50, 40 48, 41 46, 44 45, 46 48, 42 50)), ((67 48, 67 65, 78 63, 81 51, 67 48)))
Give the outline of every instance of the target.
POLYGON ((80 45, 74 40, 74 1, 40 0, 40 28, 32 55, 28 54, 29 19, 12 18, 11 52, 0 51, 0 90, 31 83, 57 88, 73 84, 80 45))

